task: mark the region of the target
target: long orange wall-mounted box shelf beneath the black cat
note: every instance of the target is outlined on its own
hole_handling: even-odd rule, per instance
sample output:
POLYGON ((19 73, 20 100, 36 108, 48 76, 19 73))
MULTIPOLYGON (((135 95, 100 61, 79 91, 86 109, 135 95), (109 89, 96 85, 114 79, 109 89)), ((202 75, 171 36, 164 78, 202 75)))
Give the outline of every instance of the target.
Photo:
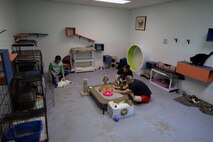
POLYGON ((197 66, 180 61, 177 63, 176 72, 206 83, 213 81, 213 68, 208 66, 197 66))

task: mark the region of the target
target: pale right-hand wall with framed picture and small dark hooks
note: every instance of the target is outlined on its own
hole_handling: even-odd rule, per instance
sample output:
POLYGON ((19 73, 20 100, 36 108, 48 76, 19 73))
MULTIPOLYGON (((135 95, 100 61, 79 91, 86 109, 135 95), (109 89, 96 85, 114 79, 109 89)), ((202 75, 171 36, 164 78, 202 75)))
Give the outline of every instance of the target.
MULTIPOLYGON (((211 0, 179 0, 132 10, 130 23, 131 44, 139 45, 149 59, 176 65, 190 61, 198 54, 209 54, 213 43, 206 42, 208 28, 212 28, 211 0), (147 16, 146 30, 135 30, 135 18, 147 16), (177 43, 174 38, 177 38, 177 43), (190 39, 188 44, 186 39, 190 39), (167 42, 165 43, 164 40, 167 42)), ((211 61, 208 64, 212 66, 211 61)), ((186 77, 181 89, 213 103, 213 83, 203 83, 186 77)))

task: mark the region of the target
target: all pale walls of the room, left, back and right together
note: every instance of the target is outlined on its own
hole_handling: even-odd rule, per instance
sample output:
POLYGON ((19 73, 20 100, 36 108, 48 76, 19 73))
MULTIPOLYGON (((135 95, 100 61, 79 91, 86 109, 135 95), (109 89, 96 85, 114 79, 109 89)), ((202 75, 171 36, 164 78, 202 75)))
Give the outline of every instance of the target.
MULTIPOLYGON (((131 44, 139 45, 147 60, 172 65, 213 50, 213 43, 205 41, 208 28, 213 25, 211 0, 179 0, 134 10, 40 0, 0 2, 0 30, 7 30, 0 34, 0 48, 11 49, 15 33, 47 33, 48 36, 36 38, 45 71, 55 55, 65 56, 73 47, 92 44, 77 37, 66 37, 65 27, 75 27, 77 33, 105 44, 105 51, 96 54, 97 66, 102 65, 105 54, 126 57, 131 44), (145 31, 135 30, 136 16, 147 16, 145 31), (174 38, 178 39, 177 43, 174 38), (186 39, 190 39, 190 44, 186 39)), ((208 64, 212 66, 212 58, 208 64)), ((186 77, 181 89, 213 104, 212 83, 186 77)))

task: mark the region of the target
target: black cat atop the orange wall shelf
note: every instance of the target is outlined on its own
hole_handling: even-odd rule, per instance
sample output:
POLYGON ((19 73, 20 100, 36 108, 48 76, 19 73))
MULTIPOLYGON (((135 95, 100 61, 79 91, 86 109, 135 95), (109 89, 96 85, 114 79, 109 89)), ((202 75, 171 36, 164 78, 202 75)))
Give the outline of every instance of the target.
POLYGON ((205 61, 213 54, 213 51, 210 54, 197 54, 193 57, 190 57, 190 61, 192 62, 193 65, 199 65, 203 66, 205 61))

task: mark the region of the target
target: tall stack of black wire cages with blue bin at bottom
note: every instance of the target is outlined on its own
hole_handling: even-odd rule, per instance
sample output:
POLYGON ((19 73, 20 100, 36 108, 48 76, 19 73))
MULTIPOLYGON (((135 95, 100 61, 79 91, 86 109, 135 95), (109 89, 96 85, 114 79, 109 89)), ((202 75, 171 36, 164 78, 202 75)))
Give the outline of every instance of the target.
POLYGON ((40 50, 16 50, 10 84, 11 112, 1 122, 2 141, 48 141, 47 107, 40 50))

